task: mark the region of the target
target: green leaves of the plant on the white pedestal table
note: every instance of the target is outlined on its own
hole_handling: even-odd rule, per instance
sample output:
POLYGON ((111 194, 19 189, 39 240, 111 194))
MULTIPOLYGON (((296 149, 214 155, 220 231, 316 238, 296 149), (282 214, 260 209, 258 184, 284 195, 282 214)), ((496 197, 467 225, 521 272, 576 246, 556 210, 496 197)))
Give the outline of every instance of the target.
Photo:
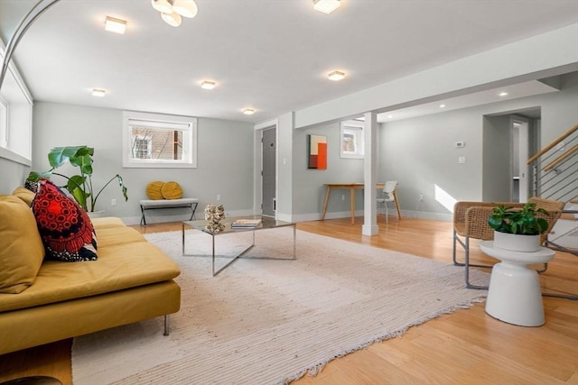
POLYGON ((522 208, 496 206, 489 216, 488 225, 500 233, 537 235, 545 233, 548 222, 537 213, 547 215, 543 208, 536 208, 536 203, 527 203, 522 208))

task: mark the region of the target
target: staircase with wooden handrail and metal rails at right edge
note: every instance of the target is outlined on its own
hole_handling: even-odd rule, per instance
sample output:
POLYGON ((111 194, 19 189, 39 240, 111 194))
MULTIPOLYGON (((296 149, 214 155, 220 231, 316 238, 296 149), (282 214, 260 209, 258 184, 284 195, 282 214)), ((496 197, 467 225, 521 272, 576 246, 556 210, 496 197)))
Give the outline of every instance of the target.
POLYGON ((527 160, 532 193, 563 201, 564 211, 548 235, 551 249, 578 256, 578 124, 527 160))

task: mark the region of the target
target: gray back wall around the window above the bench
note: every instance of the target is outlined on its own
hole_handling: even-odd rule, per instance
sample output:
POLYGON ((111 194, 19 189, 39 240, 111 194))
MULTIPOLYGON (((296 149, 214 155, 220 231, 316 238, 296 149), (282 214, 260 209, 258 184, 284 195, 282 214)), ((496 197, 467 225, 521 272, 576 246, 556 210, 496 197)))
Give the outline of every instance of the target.
MULTIPOLYGON (((185 197, 200 199, 198 213, 209 203, 220 203, 226 211, 239 214, 253 212, 252 124, 199 118, 196 169, 123 169, 122 130, 121 110, 38 102, 34 105, 33 169, 49 168, 46 155, 52 147, 86 144, 95 148, 93 183, 103 186, 118 173, 128 188, 128 202, 116 182, 98 197, 98 209, 105 209, 107 215, 135 222, 140 217, 138 201, 147 198, 146 185, 154 180, 178 182, 185 197), (117 199, 117 206, 110 205, 112 198, 117 199)), ((74 171, 70 167, 59 170, 65 175, 74 171)), ((187 212, 154 210, 147 212, 147 218, 154 222, 154 216, 166 220, 170 215, 178 220, 187 218, 187 212)))

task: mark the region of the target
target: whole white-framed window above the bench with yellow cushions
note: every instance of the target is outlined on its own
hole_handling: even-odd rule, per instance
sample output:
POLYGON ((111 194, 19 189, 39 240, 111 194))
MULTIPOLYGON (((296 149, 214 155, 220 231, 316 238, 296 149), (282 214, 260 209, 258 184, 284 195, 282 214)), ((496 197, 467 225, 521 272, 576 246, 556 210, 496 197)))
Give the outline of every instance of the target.
POLYGON ((125 112, 123 125, 124 167, 197 167, 196 118, 125 112))

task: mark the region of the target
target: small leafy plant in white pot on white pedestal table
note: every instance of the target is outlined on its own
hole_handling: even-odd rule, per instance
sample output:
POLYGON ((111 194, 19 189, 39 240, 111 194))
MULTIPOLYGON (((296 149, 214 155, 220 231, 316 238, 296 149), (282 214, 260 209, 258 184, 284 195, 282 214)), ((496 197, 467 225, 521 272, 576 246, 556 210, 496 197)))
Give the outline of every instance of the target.
POLYGON ((522 208, 496 206, 489 216, 488 225, 494 229, 494 246, 517 252, 540 250, 540 236, 548 230, 548 222, 538 214, 548 215, 536 203, 522 208))

